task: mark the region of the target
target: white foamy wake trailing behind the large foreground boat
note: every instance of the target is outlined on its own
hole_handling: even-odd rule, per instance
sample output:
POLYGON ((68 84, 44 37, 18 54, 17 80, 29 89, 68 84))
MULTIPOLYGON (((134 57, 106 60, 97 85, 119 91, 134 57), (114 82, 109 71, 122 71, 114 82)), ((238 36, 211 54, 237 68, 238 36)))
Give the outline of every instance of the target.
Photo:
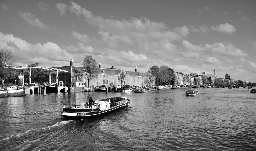
POLYGON ((66 121, 57 122, 54 125, 50 125, 50 126, 43 127, 43 128, 31 129, 31 130, 28 130, 24 133, 13 134, 13 135, 10 135, 10 136, 7 136, 7 137, 0 136, 0 138, 2 137, 2 140, 0 141, 0 143, 2 141, 10 140, 12 138, 16 139, 17 137, 26 136, 30 133, 40 133, 40 132, 44 132, 44 131, 47 131, 47 130, 51 130, 51 129, 54 129, 56 127, 61 127, 61 126, 67 125, 68 123, 71 123, 71 122, 74 122, 74 120, 66 120, 66 121))

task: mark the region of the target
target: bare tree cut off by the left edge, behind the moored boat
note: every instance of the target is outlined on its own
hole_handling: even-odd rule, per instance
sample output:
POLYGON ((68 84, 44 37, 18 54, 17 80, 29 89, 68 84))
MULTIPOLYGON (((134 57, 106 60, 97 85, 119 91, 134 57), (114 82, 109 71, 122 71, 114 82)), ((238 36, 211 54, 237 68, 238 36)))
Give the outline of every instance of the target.
POLYGON ((14 64, 12 52, 8 49, 0 49, 0 80, 8 77, 9 69, 14 64))

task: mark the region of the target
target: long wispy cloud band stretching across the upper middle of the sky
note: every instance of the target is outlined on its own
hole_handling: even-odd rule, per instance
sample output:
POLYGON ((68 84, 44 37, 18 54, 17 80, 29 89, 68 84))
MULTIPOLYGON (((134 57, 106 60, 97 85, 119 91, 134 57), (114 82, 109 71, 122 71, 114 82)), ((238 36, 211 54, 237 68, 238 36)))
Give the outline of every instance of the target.
MULTIPOLYGON (((171 30, 168 29, 167 25, 163 22, 152 22, 145 17, 132 17, 129 20, 104 19, 102 16, 94 16, 91 11, 82 8, 80 5, 72 1, 71 5, 69 6, 69 10, 76 16, 83 16, 87 23, 99 28, 100 32, 98 33, 101 36, 102 33, 109 33, 110 36, 113 35, 123 38, 126 36, 129 37, 130 40, 132 39, 138 42, 141 42, 142 39, 161 40, 163 38, 174 41, 180 40, 183 36, 187 36, 189 33, 187 26, 178 27, 175 30, 171 30)), ((124 41, 124 39, 120 40, 124 41)))

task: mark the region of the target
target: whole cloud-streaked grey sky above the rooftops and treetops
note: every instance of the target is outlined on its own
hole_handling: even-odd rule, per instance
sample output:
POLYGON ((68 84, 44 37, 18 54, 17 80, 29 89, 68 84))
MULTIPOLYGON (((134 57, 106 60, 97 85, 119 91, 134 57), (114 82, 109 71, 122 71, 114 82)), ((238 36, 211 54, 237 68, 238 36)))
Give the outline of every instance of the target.
POLYGON ((0 0, 0 47, 17 66, 210 73, 255 82, 255 0, 0 0), (218 70, 220 69, 220 70, 218 70), (227 70, 226 70, 227 69, 227 70))

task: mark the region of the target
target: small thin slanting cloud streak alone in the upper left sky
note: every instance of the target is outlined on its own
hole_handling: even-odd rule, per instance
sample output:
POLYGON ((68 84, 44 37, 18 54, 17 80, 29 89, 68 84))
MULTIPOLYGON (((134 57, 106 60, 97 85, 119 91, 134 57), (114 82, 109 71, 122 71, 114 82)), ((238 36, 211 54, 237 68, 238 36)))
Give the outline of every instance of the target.
POLYGON ((35 15, 31 14, 30 12, 19 12, 19 16, 23 18, 28 24, 39 27, 40 29, 49 29, 47 25, 45 25, 43 22, 41 22, 38 18, 35 18, 35 15))

